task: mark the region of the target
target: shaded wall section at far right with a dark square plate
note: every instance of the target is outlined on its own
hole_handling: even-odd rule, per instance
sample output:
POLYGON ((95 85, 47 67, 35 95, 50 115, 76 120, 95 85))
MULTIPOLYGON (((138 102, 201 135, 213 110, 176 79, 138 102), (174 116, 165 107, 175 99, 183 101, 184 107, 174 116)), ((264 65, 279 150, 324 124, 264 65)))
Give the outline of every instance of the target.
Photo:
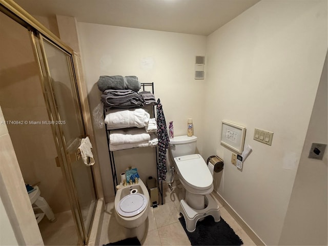
POLYGON ((308 158, 313 142, 327 144, 327 81, 326 56, 279 245, 327 245, 328 150, 308 158))

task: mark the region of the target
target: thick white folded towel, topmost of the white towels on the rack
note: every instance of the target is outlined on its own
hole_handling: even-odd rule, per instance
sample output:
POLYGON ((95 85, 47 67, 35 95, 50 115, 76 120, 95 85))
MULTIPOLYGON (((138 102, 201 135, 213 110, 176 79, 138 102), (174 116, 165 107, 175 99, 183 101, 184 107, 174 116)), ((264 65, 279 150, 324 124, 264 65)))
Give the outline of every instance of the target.
POLYGON ((143 128, 146 126, 150 114, 141 108, 129 110, 110 110, 105 117, 105 123, 109 129, 137 127, 143 128))

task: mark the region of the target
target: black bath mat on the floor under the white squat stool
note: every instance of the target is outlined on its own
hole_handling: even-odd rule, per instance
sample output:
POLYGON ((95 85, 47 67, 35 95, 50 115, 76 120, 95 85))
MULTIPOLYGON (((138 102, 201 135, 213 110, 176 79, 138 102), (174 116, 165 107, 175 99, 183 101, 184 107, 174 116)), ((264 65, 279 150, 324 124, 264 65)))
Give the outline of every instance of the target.
POLYGON ((207 216, 196 224, 194 232, 186 229, 185 218, 179 218, 180 223, 191 242, 191 245, 241 245, 242 240, 236 235, 229 224, 221 217, 215 222, 212 216, 207 216))

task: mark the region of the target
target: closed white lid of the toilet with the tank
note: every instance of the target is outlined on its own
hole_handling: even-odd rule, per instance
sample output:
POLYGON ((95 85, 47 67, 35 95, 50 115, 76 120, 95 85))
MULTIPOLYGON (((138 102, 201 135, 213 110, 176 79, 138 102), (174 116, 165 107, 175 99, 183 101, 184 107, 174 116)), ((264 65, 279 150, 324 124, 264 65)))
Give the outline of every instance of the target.
POLYGON ((199 154, 175 157, 177 169, 189 186, 197 190, 207 190, 212 186, 213 177, 206 162, 199 154))

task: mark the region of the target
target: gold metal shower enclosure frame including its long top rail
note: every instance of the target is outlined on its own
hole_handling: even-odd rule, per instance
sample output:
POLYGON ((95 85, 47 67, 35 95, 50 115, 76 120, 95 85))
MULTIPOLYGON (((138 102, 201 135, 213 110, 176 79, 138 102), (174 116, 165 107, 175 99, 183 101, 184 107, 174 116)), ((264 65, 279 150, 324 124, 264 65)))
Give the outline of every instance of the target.
MULTIPOLYGON (((51 73, 48 66, 47 54, 45 50, 45 43, 47 45, 53 46, 58 49, 60 52, 65 53, 67 57, 67 63, 69 64, 70 79, 72 83, 72 95, 74 100, 78 102, 78 112, 76 112, 80 117, 80 127, 81 134, 76 136, 78 141, 81 138, 86 137, 86 128, 84 125, 83 113, 81 110, 81 102, 79 98, 78 86, 77 86, 77 76, 76 76, 76 64, 74 59, 74 51, 66 46, 61 40, 52 34, 48 29, 46 29, 42 24, 38 23, 32 16, 30 16, 24 9, 20 8, 11 0, 0 0, 0 11, 4 12, 20 25, 26 27, 31 32, 31 40, 34 47, 35 58, 38 62, 39 71, 40 71, 40 80, 42 81, 42 89, 44 93, 44 98, 47 105, 47 111, 50 121, 53 122, 63 122, 65 119, 60 118, 60 113, 58 112, 58 102, 56 99, 56 94, 54 92, 54 85, 51 79, 51 73)), ((55 140, 55 145, 58 153, 58 158, 56 159, 57 165, 61 167, 63 176, 66 182, 66 187, 68 190, 68 195, 70 199, 70 206, 73 213, 74 222, 76 225, 76 230, 78 234, 78 240, 80 244, 86 244, 88 242, 91 224, 93 221, 93 216, 96 208, 96 202, 94 203, 91 222, 89 228, 86 228, 84 224, 83 215, 80 210, 80 201, 78 197, 78 192, 75 187, 75 181, 72 165, 74 162, 77 162, 76 150, 78 145, 74 145, 71 150, 68 150, 67 142, 65 139, 65 131, 63 125, 61 124, 50 124, 52 126, 52 132, 55 140)), ((93 169, 90 167, 90 174, 92 180, 92 190, 94 191, 95 201, 97 200, 97 190, 95 186, 95 180, 93 176, 93 169)))

